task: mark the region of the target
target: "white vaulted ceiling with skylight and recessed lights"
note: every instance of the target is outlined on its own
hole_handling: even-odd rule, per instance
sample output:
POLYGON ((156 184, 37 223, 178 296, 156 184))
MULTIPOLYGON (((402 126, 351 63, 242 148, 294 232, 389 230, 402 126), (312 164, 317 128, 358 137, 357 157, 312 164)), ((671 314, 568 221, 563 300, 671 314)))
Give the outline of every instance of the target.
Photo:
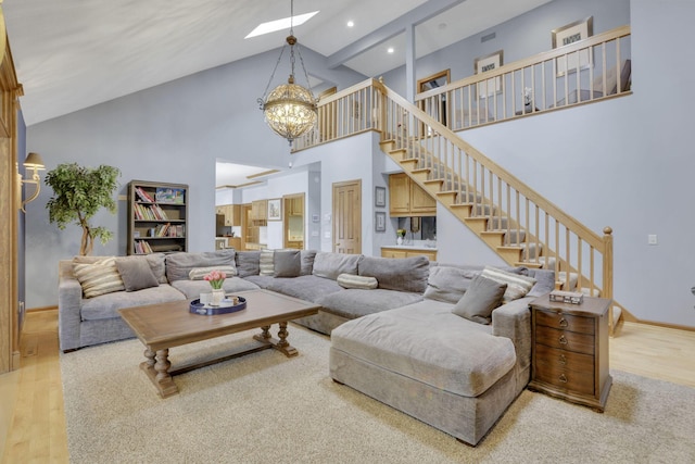
MULTIPOLYGON (((548 1, 295 0, 295 14, 319 13, 294 33, 331 65, 376 77, 405 63, 408 24, 421 57, 548 1)), ((287 30, 244 37, 290 15, 277 0, 7 0, 2 9, 27 125, 281 47, 287 30)))

